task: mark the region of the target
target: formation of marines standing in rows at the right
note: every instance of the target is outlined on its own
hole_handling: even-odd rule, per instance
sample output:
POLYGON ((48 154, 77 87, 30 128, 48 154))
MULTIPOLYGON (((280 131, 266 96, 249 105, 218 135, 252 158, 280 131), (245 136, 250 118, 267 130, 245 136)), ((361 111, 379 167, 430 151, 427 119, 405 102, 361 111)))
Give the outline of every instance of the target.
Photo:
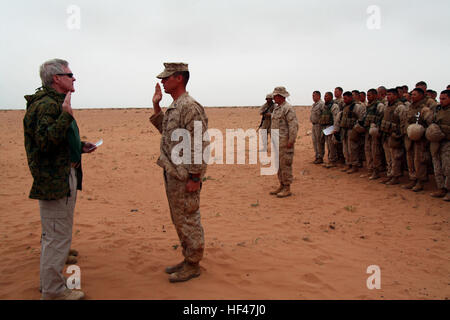
POLYGON ((404 189, 423 190, 428 174, 434 171, 438 190, 432 197, 450 201, 450 90, 427 90, 420 81, 408 92, 407 86, 386 89, 327 92, 322 101, 314 91, 311 109, 314 164, 325 168, 343 165, 341 171, 353 174, 363 167, 369 180, 385 177, 381 183, 400 183, 407 169, 409 183, 404 189), (367 100, 366 100, 367 98, 367 100), (324 132, 325 130, 325 132, 324 132))

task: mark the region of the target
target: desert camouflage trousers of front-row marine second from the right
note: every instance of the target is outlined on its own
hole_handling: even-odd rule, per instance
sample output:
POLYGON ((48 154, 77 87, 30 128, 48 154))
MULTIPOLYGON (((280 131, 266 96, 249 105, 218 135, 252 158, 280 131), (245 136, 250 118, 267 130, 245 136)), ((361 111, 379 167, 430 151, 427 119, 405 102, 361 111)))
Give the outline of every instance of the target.
POLYGON ((411 141, 408 137, 405 137, 405 146, 409 179, 426 181, 427 161, 429 160, 427 140, 422 138, 418 141, 411 141))

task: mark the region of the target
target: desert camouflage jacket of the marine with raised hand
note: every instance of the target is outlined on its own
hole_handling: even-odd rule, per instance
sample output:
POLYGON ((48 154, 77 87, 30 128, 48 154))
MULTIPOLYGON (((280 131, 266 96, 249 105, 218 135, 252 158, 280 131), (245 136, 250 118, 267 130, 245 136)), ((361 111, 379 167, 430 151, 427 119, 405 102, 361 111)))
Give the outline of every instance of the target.
MULTIPOLYGON (((150 117, 150 122, 161 133, 160 156, 157 164, 164 168, 164 170, 171 176, 178 180, 185 181, 189 174, 200 174, 203 176, 206 172, 206 163, 203 161, 203 152, 208 146, 209 141, 203 141, 205 131, 208 130, 208 117, 206 116, 203 106, 195 101, 187 92, 182 94, 178 99, 169 106, 164 113, 161 111, 150 117), (196 128, 195 122, 201 124, 201 128, 196 128), (178 144, 182 144, 182 139, 175 139, 172 141, 172 134, 176 129, 186 129, 190 136, 189 150, 175 149, 178 144), (200 140, 199 146, 201 150, 197 150, 195 136, 200 140), (172 158, 172 153, 178 151, 179 158, 183 159, 183 163, 175 163, 172 158), (190 154, 185 155, 188 151, 190 154), (196 156, 197 155, 197 156, 196 156), (201 159, 199 157, 201 156, 201 159), (186 158, 185 158, 186 157, 186 158), (186 159, 187 161, 184 161, 186 159)), ((198 148, 200 149, 200 148, 198 148)), ((205 160, 206 161, 206 160, 205 160)))

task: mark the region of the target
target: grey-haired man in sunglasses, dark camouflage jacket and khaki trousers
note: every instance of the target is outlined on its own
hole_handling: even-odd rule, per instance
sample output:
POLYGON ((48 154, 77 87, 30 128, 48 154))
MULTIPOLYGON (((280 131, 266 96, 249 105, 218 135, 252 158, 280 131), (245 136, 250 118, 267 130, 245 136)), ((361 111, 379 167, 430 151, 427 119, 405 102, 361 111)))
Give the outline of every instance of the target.
POLYGON ((39 200, 41 215, 41 299, 78 300, 82 291, 66 287, 62 270, 72 242, 73 212, 81 190, 81 154, 96 146, 80 141, 71 94, 75 78, 65 60, 40 67, 42 87, 25 96, 25 150, 33 176, 29 197, 39 200))

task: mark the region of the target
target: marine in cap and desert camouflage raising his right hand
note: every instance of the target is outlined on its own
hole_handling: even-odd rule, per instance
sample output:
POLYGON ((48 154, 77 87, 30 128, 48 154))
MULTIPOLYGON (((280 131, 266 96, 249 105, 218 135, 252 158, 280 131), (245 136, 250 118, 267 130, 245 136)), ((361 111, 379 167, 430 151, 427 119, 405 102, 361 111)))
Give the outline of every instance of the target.
MULTIPOLYGON (((189 80, 188 65, 184 63, 165 63, 165 70, 158 75, 166 93, 173 98, 172 104, 166 112, 159 106, 162 99, 161 87, 156 85, 153 96, 154 114, 150 117, 151 123, 161 133, 160 156, 157 164, 164 169, 164 183, 167 200, 169 202, 172 222, 177 231, 183 248, 184 261, 167 267, 170 282, 187 281, 198 277, 200 260, 204 252, 204 232, 200 221, 200 191, 202 178, 206 172, 203 157, 197 159, 196 154, 207 147, 208 142, 200 146, 194 143, 194 129, 201 124, 201 134, 208 129, 208 118, 203 106, 195 101, 186 92, 189 80), (179 141, 172 141, 172 133, 177 129, 187 130, 190 136, 190 153, 188 161, 178 164, 174 162, 172 151, 179 141), (200 160, 200 161, 198 161, 200 160)), ((198 130, 198 129, 196 129, 198 130)), ((184 141, 185 137, 183 137, 184 141)), ((202 139, 203 140, 203 139, 202 139)), ((186 157, 186 150, 181 150, 179 156, 186 157), (181 154, 183 153, 183 154, 181 154)))

